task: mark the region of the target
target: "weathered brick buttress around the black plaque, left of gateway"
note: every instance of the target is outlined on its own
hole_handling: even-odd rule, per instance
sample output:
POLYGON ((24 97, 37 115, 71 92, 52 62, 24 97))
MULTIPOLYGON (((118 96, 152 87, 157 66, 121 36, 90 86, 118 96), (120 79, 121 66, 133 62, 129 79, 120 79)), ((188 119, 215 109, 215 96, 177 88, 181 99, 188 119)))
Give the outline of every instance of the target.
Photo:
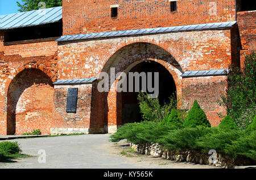
MULTIPOLYGON (((52 123, 52 128, 88 128, 88 132, 90 133, 104 132, 104 123, 101 118, 101 108, 103 106, 97 108, 96 103, 98 101, 92 102, 92 97, 97 97, 97 95, 94 95, 95 93, 97 92, 92 84, 55 86, 54 104, 60 117, 64 117, 64 121, 61 120, 58 123, 52 123), (78 88, 79 90, 76 113, 66 112, 69 88, 78 88), (53 127, 53 125, 55 126, 53 127)), ((100 99, 98 100, 100 101, 100 99)))

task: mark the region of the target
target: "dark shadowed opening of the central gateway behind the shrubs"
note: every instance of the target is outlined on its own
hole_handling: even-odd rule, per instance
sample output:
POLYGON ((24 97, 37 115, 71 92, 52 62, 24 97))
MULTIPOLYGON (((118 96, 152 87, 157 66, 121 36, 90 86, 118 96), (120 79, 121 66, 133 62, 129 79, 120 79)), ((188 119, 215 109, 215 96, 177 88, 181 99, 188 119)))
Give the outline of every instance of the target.
MULTIPOLYGON (((158 89, 158 99, 161 106, 164 103, 168 103, 170 101, 170 97, 172 95, 176 96, 176 85, 174 78, 168 72, 163 65, 159 64, 155 61, 143 61, 134 66, 130 70, 129 73, 152 73, 152 78, 147 76, 146 86, 148 87, 148 80, 151 81, 152 87, 154 89, 158 89), (158 73, 158 87, 156 88, 156 83, 154 82, 155 77, 154 74, 158 73)), ((134 79, 133 79, 134 80, 134 79)), ((139 90, 142 90, 142 81, 140 79, 139 90)), ((127 76, 127 82, 129 81, 129 76, 127 76)), ((135 81, 133 81, 135 83, 135 81)), ((133 84, 135 87, 135 84, 133 84)), ((127 89, 129 89, 129 83, 127 83, 127 89)), ((150 92, 148 92, 150 94, 150 92)), ((122 123, 134 123, 134 122, 141 122, 142 121, 142 114, 139 108, 139 101, 138 101, 138 92, 122 92, 122 123)))

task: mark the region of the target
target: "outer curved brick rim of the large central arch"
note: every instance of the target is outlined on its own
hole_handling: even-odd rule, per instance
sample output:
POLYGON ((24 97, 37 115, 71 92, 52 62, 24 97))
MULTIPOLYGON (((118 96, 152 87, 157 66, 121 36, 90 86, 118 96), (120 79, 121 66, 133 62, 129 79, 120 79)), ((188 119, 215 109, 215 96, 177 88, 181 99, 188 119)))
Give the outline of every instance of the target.
MULTIPOLYGON (((110 49, 110 51, 104 56, 103 60, 101 61, 100 72, 102 72, 102 70, 104 69, 104 66, 108 63, 108 60, 115 53, 117 53, 119 50, 126 47, 127 45, 131 45, 134 43, 150 43, 150 44, 157 45, 158 47, 160 47, 160 48, 164 49, 165 51, 167 51, 168 53, 170 53, 170 55, 173 56, 175 58, 175 60, 177 61, 177 63, 180 65, 181 56, 180 56, 178 49, 176 49, 175 47, 171 47, 169 44, 165 43, 164 41, 158 41, 155 39, 143 39, 142 37, 138 37, 138 38, 124 40, 121 43, 118 43, 117 45, 115 45, 115 47, 113 47, 112 49, 110 49)), ((180 65, 180 68, 181 68, 181 72, 184 72, 181 65, 180 65)))

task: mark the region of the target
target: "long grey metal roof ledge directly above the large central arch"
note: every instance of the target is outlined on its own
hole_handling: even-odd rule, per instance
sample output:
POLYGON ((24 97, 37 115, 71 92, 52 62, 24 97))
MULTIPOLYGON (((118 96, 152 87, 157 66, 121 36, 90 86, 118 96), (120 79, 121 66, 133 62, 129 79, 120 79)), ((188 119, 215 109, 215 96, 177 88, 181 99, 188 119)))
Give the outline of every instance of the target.
POLYGON ((172 26, 172 27, 161 27, 161 28, 159 28, 159 27, 158 28, 144 28, 144 29, 141 29, 141 30, 125 30, 125 31, 97 32, 97 33, 79 34, 79 35, 65 35, 65 36, 61 36, 56 41, 61 42, 61 41, 72 41, 72 40, 96 39, 96 38, 104 38, 104 37, 121 37, 121 36, 132 36, 132 35, 166 34, 168 32, 220 30, 220 29, 231 28, 236 23, 237 23, 236 21, 220 22, 220 23, 204 23, 204 24, 192 24, 192 25, 185 25, 185 26, 172 26), (198 27, 200 27, 200 28, 198 28, 198 27), (129 32, 129 33, 127 33, 127 32, 129 32), (86 37, 86 35, 90 35, 90 36, 86 37), (73 36, 76 36, 76 38, 71 38, 73 36), (79 36, 81 36, 81 37, 79 38, 79 36), (69 38, 67 39, 67 37, 69 37, 69 38))

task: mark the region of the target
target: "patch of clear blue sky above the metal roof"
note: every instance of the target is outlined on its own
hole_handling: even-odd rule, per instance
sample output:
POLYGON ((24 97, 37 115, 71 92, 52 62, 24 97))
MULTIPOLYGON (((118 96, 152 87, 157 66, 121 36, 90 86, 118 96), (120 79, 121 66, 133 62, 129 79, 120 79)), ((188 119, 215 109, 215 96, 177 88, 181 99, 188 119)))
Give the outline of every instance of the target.
POLYGON ((21 0, 0 0, 0 15, 19 12, 16 1, 21 0))

